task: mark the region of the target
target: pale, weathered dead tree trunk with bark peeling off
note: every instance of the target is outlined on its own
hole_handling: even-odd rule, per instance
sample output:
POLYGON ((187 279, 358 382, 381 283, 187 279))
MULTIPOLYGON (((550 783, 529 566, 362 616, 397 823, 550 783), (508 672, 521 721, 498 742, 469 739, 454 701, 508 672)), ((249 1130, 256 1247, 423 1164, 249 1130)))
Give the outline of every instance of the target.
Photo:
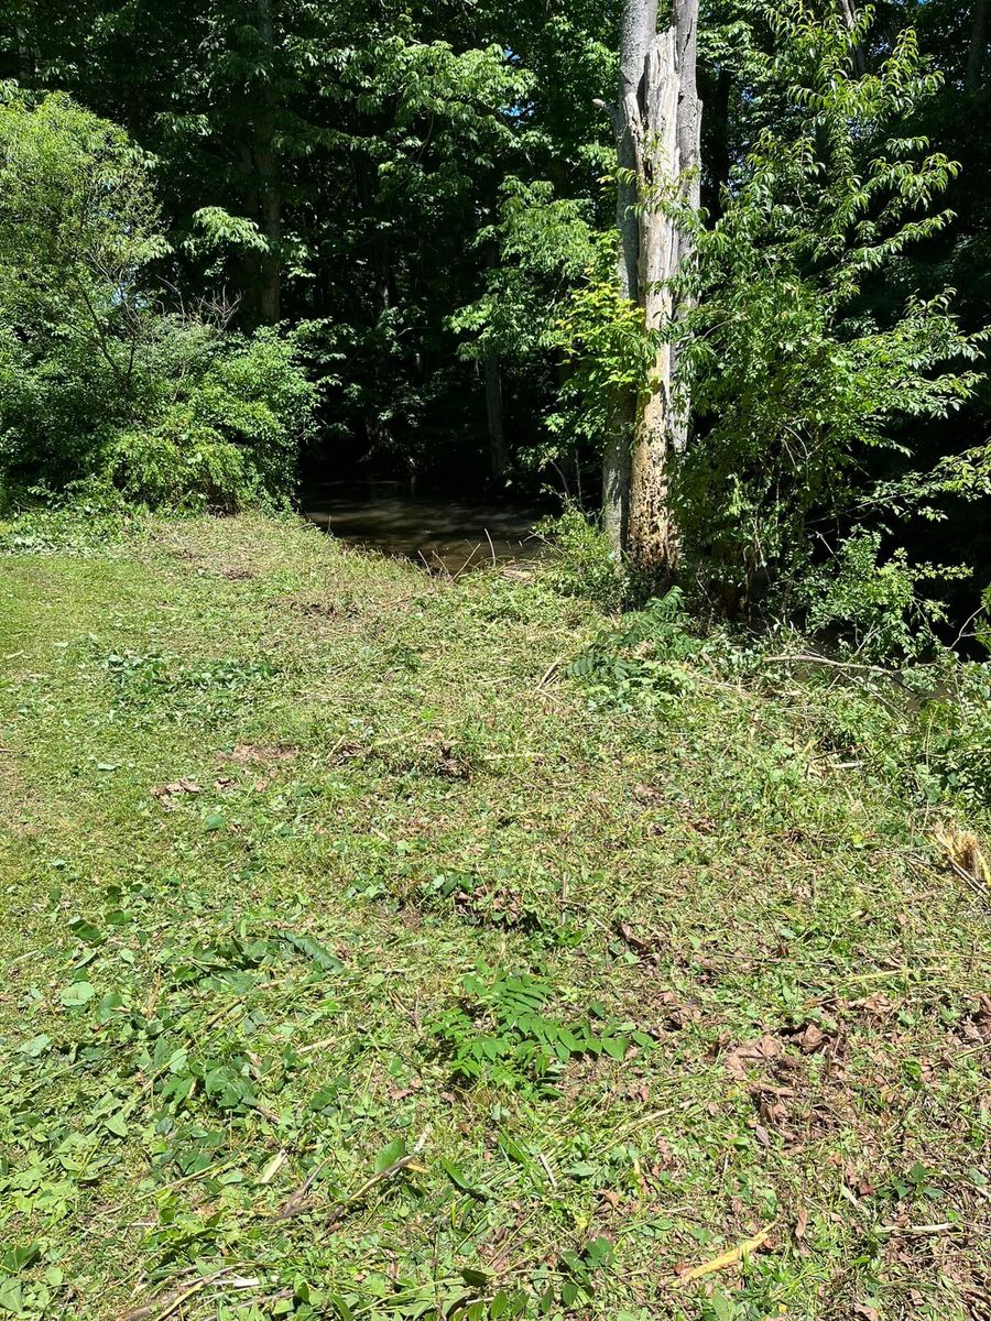
POLYGON ((691 258, 686 213, 699 205, 698 8, 698 0, 674 0, 671 21, 658 32, 657 0, 626 0, 613 112, 620 285, 661 341, 646 390, 617 407, 605 456, 605 526, 617 552, 658 576, 678 561, 670 469, 687 439, 688 402, 684 390, 675 398, 671 328, 686 310, 675 285, 691 258))

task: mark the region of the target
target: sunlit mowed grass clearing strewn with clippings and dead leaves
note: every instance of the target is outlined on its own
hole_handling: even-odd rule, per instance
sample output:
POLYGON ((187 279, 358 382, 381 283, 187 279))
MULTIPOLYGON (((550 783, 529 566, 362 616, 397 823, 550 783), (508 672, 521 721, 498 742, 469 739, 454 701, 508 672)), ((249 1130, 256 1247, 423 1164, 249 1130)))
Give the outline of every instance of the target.
POLYGON ((987 888, 835 674, 591 701, 540 571, 288 520, 8 544, 0 1314, 990 1314, 987 888))

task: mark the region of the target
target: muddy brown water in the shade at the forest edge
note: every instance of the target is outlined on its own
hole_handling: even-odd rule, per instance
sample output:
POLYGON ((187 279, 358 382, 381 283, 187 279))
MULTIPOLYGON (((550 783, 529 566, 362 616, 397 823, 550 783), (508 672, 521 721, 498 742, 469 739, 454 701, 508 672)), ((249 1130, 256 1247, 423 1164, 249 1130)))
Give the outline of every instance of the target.
POLYGON ((542 548, 532 535, 540 510, 407 495, 396 486, 328 483, 307 493, 304 511, 342 542, 416 560, 437 573, 534 559, 542 548))

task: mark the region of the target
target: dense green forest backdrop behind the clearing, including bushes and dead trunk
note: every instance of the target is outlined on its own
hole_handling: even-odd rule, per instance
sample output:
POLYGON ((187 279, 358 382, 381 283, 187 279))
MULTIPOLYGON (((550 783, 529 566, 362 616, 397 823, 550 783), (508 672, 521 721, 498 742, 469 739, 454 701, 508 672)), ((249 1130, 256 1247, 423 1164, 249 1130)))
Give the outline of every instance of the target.
POLYGON ((720 609, 884 569, 966 633, 984 0, 620 9, 5 0, 11 498, 551 487, 720 609))

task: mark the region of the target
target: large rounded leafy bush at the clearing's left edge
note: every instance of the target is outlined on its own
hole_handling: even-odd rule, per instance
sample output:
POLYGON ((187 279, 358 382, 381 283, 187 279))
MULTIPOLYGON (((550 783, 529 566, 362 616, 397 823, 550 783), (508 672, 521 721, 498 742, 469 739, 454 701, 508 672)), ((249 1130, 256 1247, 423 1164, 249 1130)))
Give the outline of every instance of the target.
POLYGON ((52 95, 0 98, 0 483, 86 477, 148 505, 284 503, 314 390, 293 339, 164 308, 149 162, 52 95))

